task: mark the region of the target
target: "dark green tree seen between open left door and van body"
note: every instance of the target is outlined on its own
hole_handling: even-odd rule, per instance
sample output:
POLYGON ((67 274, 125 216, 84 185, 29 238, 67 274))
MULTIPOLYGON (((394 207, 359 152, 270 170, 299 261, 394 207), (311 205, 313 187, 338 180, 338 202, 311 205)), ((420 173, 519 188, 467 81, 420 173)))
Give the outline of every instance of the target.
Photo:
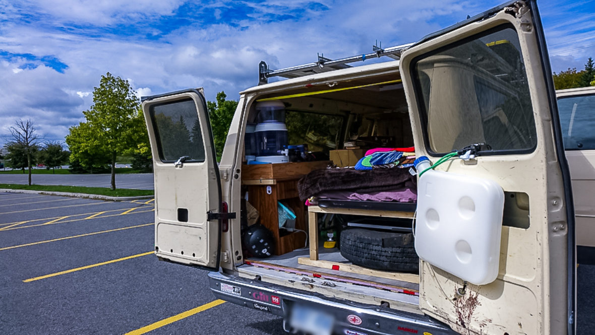
MULTIPOLYGON (((227 132, 229 131, 229 126, 231 125, 231 119, 233 119, 233 114, 236 112, 237 108, 237 101, 226 100, 226 97, 227 95, 225 92, 221 91, 217 93, 217 99, 214 102, 206 102, 206 107, 209 111, 209 118, 211 119, 211 129, 213 131, 213 141, 215 143, 217 157, 221 157, 221 154, 223 153, 223 147, 225 146, 227 132)), ((199 138, 195 135, 196 127, 198 127, 198 125, 193 125, 193 141, 197 141, 196 138, 199 138)), ((198 132, 199 131, 200 129, 198 129, 198 132)))

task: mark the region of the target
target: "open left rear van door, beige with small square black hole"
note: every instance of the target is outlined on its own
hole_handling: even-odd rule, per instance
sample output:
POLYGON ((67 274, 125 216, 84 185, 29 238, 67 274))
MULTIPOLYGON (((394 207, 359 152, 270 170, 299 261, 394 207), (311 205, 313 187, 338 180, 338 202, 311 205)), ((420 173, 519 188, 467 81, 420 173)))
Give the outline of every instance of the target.
POLYGON ((155 178, 155 254, 217 270, 221 181, 202 90, 143 99, 155 178))

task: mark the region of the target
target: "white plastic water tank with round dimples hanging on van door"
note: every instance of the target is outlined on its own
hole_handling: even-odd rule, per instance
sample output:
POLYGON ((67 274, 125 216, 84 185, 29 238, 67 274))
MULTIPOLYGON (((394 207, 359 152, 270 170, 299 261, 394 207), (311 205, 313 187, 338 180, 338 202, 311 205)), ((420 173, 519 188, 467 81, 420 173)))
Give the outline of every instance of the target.
MULTIPOLYGON (((430 166, 425 156, 415 163, 418 173, 430 166)), ((418 181, 415 251, 466 282, 491 283, 499 271, 503 208, 496 182, 429 169, 418 181)))

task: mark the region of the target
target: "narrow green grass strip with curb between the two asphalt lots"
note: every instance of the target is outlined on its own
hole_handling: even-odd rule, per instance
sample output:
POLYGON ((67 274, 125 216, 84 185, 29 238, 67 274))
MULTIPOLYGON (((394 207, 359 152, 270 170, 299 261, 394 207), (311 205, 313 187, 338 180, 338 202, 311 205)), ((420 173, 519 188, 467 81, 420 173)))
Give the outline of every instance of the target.
POLYGON ((0 188, 8 189, 30 189, 32 191, 70 192, 83 194, 108 195, 109 197, 140 197, 142 195, 153 195, 152 189, 129 189, 117 188, 114 191, 108 187, 83 187, 65 185, 21 185, 21 184, 0 184, 0 188))

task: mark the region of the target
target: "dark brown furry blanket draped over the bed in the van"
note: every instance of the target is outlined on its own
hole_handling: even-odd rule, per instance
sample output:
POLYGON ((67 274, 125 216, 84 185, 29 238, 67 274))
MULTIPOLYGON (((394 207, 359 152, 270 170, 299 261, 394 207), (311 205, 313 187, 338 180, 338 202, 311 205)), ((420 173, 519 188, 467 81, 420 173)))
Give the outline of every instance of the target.
POLYGON ((353 168, 314 170, 297 182, 299 198, 305 201, 321 192, 349 190, 358 193, 397 187, 417 187, 409 169, 356 170, 353 168))

